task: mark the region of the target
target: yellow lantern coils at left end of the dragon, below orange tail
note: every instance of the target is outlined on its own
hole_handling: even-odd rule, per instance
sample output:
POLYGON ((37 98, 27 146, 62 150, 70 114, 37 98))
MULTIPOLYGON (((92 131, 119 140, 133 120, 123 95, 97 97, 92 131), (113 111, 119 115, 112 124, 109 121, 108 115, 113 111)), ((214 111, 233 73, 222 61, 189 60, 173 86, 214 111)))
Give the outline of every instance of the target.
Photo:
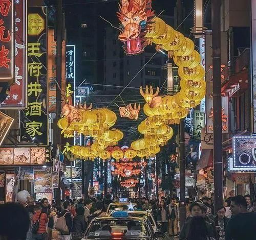
MULTIPOLYGON (((111 152, 106 150, 109 146, 117 145, 123 138, 123 133, 115 128, 116 114, 107 109, 74 107, 66 104, 62 108, 63 117, 58 121, 58 127, 65 137, 73 137, 74 133, 91 136, 94 139, 90 147, 72 146, 71 153, 83 159, 94 160, 97 157, 108 159, 111 152)), ((118 155, 116 153, 116 155, 118 155)), ((123 154, 121 155, 121 157, 123 154)))

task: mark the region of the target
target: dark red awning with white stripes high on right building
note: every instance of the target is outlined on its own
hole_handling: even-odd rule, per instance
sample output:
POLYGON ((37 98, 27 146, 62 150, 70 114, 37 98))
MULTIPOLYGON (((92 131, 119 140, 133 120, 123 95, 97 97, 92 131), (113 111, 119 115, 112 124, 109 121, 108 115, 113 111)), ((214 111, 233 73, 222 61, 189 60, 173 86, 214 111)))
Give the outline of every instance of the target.
POLYGON ((241 95, 248 88, 248 69, 240 71, 234 75, 229 76, 228 81, 222 85, 222 92, 229 95, 229 98, 236 98, 241 95))

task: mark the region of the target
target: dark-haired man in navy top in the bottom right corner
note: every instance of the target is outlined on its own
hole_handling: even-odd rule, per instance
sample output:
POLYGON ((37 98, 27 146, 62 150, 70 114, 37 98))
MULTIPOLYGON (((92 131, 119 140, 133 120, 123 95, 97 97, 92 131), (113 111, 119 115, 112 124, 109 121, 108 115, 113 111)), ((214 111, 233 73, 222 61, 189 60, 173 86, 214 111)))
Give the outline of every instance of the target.
POLYGON ((256 213, 247 212, 245 197, 238 195, 231 199, 233 214, 226 227, 225 240, 255 239, 256 213))

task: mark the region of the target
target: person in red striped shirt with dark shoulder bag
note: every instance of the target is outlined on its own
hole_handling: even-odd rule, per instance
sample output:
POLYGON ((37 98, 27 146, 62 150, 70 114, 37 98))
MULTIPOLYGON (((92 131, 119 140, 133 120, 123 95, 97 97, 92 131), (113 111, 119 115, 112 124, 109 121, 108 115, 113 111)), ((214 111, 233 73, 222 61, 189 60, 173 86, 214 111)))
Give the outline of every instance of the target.
POLYGON ((39 227, 36 233, 32 233, 32 238, 33 240, 46 240, 46 224, 48 223, 48 217, 45 212, 42 212, 42 207, 40 205, 35 206, 35 214, 32 218, 33 224, 35 224, 37 221, 39 221, 39 227))

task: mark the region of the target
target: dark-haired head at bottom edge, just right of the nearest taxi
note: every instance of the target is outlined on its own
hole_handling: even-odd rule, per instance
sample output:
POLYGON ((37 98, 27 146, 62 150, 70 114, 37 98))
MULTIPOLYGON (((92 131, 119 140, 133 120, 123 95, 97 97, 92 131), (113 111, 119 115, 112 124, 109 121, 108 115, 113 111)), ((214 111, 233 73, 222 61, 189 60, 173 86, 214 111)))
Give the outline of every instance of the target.
POLYGON ((186 240, 214 240, 209 232, 203 217, 197 215, 191 219, 186 240))

